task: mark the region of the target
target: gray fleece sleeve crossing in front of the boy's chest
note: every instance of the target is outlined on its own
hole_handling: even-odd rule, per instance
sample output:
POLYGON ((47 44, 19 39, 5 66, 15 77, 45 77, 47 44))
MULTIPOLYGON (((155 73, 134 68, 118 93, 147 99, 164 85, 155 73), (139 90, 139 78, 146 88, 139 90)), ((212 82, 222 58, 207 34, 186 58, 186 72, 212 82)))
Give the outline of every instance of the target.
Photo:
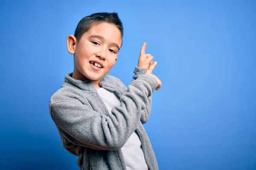
POLYGON ((49 103, 49 112, 58 129, 73 144, 96 150, 119 150, 140 122, 157 84, 154 78, 142 75, 128 85, 120 97, 121 105, 109 116, 94 111, 75 98, 49 103))

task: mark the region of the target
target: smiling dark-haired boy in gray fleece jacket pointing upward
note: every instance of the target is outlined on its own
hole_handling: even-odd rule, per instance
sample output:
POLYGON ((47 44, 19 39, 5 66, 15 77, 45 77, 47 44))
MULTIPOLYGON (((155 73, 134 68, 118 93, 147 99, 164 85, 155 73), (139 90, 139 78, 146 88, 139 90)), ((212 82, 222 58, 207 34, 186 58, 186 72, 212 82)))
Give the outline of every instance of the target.
POLYGON ((79 156, 81 170, 157 170, 157 160, 143 123, 151 111, 151 95, 161 87, 151 74, 156 62, 140 52, 134 80, 128 87, 107 75, 122 45, 123 27, 116 13, 84 17, 67 50, 73 73, 49 101, 62 145, 79 156))

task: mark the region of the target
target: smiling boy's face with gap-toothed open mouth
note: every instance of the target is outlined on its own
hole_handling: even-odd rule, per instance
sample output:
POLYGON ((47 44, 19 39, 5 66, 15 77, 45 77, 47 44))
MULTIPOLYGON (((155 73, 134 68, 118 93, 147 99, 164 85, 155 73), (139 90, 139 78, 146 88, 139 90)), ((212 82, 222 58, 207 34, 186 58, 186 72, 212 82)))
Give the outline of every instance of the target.
POLYGON ((116 63, 121 45, 121 33, 115 25, 100 23, 93 26, 83 34, 79 43, 76 44, 74 71, 79 72, 87 79, 100 80, 116 63))

